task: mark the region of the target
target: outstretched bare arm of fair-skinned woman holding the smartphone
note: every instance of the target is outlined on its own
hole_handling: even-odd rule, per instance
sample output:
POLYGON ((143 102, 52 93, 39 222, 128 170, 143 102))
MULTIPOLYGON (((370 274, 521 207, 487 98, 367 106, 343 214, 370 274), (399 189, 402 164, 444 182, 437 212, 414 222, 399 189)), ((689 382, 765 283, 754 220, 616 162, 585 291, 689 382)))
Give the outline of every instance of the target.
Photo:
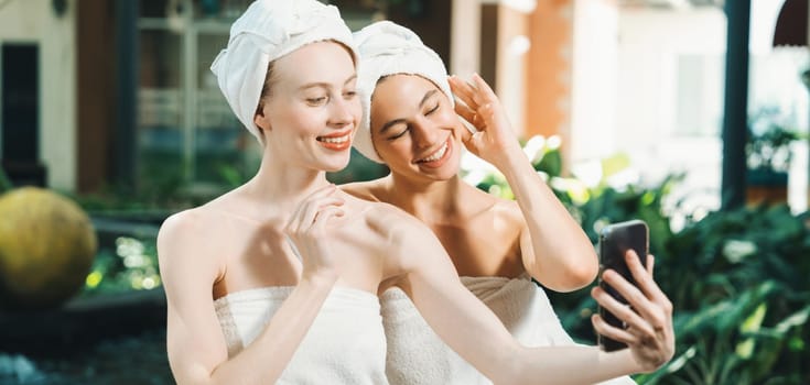
MULTIPOLYGON (((495 383, 592 384, 651 371, 671 358, 674 341, 663 334, 652 334, 655 344, 648 338, 636 336, 628 342, 631 349, 612 353, 596 346, 522 348, 497 317, 464 288, 441 243, 430 230, 414 227, 400 233, 403 238, 395 244, 396 250, 407 255, 402 261, 408 272, 400 286, 442 340, 495 383)), ((639 302, 638 306, 648 309, 657 305, 647 300, 647 304, 639 302)), ((666 322, 665 312, 659 315, 663 316, 663 323, 656 323, 654 328, 646 315, 631 318, 623 314, 637 330, 667 330, 671 334, 671 322, 666 322)), ((671 314, 669 316, 671 320, 671 314)), ((598 327, 605 330, 604 324, 598 327)), ((616 333, 611 336, 623 341, 630 339, 616 333)))

